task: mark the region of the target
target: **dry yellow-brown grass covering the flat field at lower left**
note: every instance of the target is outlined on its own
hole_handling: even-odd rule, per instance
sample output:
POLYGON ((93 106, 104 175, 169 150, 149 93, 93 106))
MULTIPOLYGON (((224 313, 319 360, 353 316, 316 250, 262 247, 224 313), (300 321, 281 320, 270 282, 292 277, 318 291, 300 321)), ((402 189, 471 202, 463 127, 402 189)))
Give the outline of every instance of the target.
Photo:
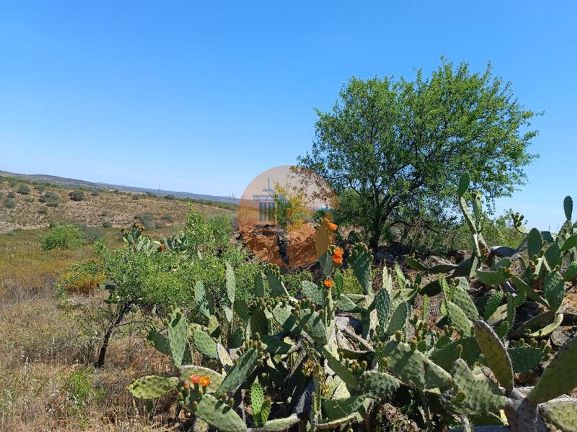
MULTIPOLYGON (((145 405, 126 391, 137 377, 168 372, 170 359, 149 346, 135 317, 115 332, 106 366, 93 369, 108 322, 107 294, 63 302, 55 282, 72 263, 95 256, 91 245, 42 251, 44 233, 0 234, 0 431, 174 429, 171 401, 155 401, 150 420, 145 405)), ((104 234, 111 247, 122 245, 118 229, 104 234)))

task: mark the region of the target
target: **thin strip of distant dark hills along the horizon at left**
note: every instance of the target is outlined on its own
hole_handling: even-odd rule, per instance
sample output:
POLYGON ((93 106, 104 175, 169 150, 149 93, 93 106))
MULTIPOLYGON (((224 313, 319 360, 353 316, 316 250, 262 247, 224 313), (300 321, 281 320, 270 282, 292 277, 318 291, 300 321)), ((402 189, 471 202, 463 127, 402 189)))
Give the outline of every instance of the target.
POLYGON ((238 204, 238 198, 231 198, 229 196, 193 194, 192 192, 165 191, 162 189, 158 190, 158 189, 140 188, 118 184, 108 184, 108 183, 92 183, 91 181, 69 179, 68 177, 50 176, 47 174, 19 174, 0 170, 0 176, 17 177, 18 179, 23 179, 27 181, 39 181, 41 183, 57 184, 64 188, 84 187, 89 189, 100 189, 100 190, 112 189, 119 191, 141 192, 154 195, 158 194, 160 196, 173 195, 177 198, 201 199, 201 200, 217 201, 222 203, 238 204))

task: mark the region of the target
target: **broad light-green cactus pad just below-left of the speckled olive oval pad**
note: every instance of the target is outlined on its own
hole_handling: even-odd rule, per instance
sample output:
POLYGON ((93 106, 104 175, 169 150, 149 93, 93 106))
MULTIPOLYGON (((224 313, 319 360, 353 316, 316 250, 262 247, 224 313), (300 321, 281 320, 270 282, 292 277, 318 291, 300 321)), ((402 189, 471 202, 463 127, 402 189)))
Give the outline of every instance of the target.
POLYGON ((455 361, 453 374, 455 391, 459 397, 454 399, 456 412, 478 414, 499 412, 507 404, 507 397, 480 369, 471 371, 463 359, 455 361), (459 401, 461 400, 461 401, 459 401))

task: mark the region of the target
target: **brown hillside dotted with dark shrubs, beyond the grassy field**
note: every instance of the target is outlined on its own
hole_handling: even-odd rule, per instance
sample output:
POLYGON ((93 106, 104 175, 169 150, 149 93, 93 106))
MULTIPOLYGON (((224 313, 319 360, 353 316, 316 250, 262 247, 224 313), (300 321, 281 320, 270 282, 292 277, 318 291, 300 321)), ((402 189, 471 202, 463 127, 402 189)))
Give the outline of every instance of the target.
MULTIPOLYGON (((16 228, 43 228, 54 221, 124 226, 140 218, 153 226, 162 226, 182 223, 188 213, 189 200, 185 199, 84 188, 84 198, 75 201, 69 196, 73 190, 55 184, 33 184, 13 177, 0 177, 0 233, 16 228)), ((194 200, 194 204, 201 213, 208 215, 233 213, 234 209, 231 204, 222 202, 194 200)))

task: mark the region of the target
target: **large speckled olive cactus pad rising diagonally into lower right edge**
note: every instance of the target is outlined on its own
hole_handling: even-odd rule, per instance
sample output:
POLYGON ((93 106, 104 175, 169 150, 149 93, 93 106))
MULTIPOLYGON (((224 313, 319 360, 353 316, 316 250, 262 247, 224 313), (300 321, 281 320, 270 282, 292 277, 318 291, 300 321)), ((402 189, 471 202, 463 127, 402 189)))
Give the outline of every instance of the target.
POLYGON ((533 404, 552 400, 577 387, 577 336, 568 340, 549 362, 527 399, 533 404))

